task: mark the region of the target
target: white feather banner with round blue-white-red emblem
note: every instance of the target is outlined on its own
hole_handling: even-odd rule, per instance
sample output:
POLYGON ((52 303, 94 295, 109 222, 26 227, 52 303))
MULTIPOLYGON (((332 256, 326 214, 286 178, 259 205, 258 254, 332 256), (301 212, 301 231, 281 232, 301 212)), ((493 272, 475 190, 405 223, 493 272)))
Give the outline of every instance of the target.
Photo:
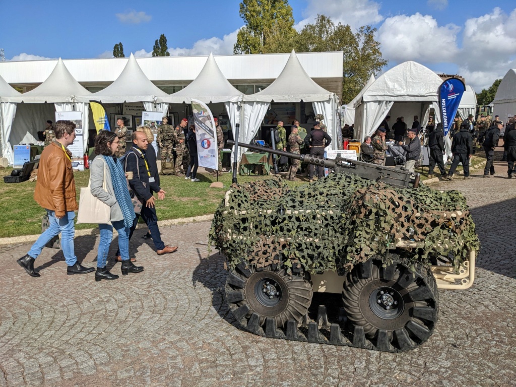
POLYGON ((191 100, 193 123, 197 137, 199 166, 218 170, 219 158, 215 139, 215 120, 209 108, 201 101, 191 100))

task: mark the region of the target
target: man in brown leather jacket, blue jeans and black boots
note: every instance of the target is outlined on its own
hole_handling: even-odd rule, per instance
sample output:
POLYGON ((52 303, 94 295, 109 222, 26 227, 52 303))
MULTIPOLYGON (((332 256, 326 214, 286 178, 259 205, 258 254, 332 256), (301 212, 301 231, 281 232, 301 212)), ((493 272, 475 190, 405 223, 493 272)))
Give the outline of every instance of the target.
POLYGON ((41 153, 34 192, 34 200, 46 210, 50 225, 28 253, 16 261, 31 277, 40 277, 39 272, 34 270, 34 261, 43 247, 59 233, 61 233, 63 255, 68 265, 67 274, 84 274, 95 270, 93 267, 84 267, 77 262, 73 246, 75 234, 73 219, 74 211, 78 206, 75 200, 72 152, 67 147, 75 139, 75 123, 57 121, 54 132, 55 139, 41 153))

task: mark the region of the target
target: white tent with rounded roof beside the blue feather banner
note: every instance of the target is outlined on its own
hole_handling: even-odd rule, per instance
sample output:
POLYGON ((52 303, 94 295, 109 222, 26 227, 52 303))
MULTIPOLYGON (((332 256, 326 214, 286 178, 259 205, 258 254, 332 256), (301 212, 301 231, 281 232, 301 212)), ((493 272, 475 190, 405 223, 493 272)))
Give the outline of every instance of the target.
MULTIPOLYGON (((357 102, 355 138, 364 140, 372 135, 383 119, 391 117, 423 117, 424 125, 430 108, 439 111, 438 89, 443 80, 420 63, 400 63, 379 76, 357 102)), ((440 115, 436 114, 440 122, 440 115)))

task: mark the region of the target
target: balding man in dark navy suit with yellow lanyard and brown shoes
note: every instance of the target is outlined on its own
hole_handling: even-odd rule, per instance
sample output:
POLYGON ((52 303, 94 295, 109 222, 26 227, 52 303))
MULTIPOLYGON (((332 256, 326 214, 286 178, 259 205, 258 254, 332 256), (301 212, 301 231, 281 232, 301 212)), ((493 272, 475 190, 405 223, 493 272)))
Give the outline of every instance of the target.
MULTIPOLYGON (((157 192, 158 199, 160 200, 165 199, 166 192, 159 187, 154 177, 152 177, 146 155, 149 144, 147 135, 143 132, 133 132, 131 139, 133 140, 133 147, 125 154, 125 171, 133 173, 133 178, 129 180, 129 185, 142 203, 141 217, 149 227, 157 254, 173 253, 178 247, 165 246, 158 228, 158 218, 155 208, 156 198, 152 195, 151 189, 157 192)), ((129 239, 133 236, 139 217, 140 214, 136 214, 136 219, 129 232, 129 239)))

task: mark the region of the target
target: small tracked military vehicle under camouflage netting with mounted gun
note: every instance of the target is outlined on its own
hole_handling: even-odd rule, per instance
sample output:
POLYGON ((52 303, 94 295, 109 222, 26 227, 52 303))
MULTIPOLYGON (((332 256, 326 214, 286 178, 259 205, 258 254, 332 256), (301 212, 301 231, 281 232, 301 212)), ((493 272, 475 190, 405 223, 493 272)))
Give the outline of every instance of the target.
POLYGON ((438 289, 474 280, 479 241, 464 197, 405 171, 296 157, 334 173, 295 188, 276 177, 233 184, 214 215, 209 240, 227 258, 225 293, 240 326, 389 352, 423 344, 438 289))

